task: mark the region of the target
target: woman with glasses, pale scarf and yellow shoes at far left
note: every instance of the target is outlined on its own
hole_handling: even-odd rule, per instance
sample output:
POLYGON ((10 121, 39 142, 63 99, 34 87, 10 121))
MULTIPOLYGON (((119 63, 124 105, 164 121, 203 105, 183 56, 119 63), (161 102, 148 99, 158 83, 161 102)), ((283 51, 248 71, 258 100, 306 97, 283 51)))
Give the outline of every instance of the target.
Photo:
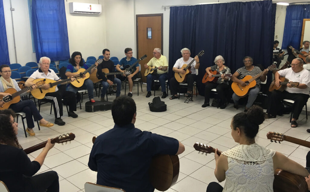
MULTIPOLYGON (((11 69, 8 65, 2 65, 0 67, 0 95, 7 96, 11 95, 10 93, 5 93, 8 88, 14 88, 16 91, 20 91, 21 89, 18 87, 17 82, 11 78, 11 69)), ((36 88, 35 85, 32 88, 36 88)), ((29 92, 29 91, 28 91, 29 92)), ((28 92, 25 92, 27 94, 28 92)), ((23 95, 23 94, 22 94, 23 95)), ((21 95, 21 96, 22 96, 21 95)), ((3 101, 0 102, 0 109, 4 104, 3 101)), ((54 124, 47 122, 39 113, 37 107, 34 105, 32 100, 21 100, 18 103, 11 104, 10 107, 15 113, 17 112, 24 112, 26 114, 26 121, 27 121, 27 133, 30 136, 34 136, 35 133, 33 131, 34 121, 40 121, 39 125, 44 127, 51 127, 54 124), (33 118, 32 118, 33 117, 33 118)))

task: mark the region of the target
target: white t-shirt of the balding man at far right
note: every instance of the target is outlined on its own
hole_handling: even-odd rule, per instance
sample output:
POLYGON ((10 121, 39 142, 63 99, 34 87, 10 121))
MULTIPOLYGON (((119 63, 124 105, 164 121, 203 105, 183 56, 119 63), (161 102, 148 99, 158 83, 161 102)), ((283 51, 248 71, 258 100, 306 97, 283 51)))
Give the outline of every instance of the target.
POLYGON ((306 69, 303 69, 302 71, 299 71, 298 73, 295 73, 292 68, 287 68, 283 70, 278 71, 279 75, 282 77, 285 77, 289 81, 292 82, 299 82, 307 85, 307 88, 305 89, 299 89, 294 87, 286 87, 285 90, 290 93, 303 93, 309 95, 310 91, 310 72, 306 69))

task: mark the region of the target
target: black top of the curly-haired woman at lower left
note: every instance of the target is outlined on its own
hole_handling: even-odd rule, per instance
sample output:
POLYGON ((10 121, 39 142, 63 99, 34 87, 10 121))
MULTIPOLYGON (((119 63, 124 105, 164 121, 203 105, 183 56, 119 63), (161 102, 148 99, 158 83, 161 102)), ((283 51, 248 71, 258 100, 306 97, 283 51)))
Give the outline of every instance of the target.
POLYGON ((23 175, 33 176, 41 168, 38 161, 30 161, 24 150, 0 144, 0 180, 9 191, 24 191, 23 175))

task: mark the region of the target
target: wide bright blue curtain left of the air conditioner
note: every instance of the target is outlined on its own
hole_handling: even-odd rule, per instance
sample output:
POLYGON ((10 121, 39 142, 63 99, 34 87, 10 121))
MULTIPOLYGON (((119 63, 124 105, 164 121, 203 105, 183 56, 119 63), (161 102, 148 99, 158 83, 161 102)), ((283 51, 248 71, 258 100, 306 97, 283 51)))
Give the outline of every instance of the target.
POLYGON ((32 0, 32 30, 37 62, 70 58, 66 13, 63 0, 32 0))

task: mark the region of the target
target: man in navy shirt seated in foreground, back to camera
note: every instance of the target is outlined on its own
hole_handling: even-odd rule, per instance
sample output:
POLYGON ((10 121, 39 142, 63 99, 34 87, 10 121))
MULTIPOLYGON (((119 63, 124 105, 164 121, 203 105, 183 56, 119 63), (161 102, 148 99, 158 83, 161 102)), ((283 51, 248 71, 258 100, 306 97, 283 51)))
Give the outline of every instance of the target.
POLYGON ((179 155, 185 148, 177 139, 135 128, 136 105, 131 97, 113 101, 114 128, 99 135, 91 149, 88 166, 97 171, 97 184, 126 192, 150 192, 148 169, 157 154, 179 155))

